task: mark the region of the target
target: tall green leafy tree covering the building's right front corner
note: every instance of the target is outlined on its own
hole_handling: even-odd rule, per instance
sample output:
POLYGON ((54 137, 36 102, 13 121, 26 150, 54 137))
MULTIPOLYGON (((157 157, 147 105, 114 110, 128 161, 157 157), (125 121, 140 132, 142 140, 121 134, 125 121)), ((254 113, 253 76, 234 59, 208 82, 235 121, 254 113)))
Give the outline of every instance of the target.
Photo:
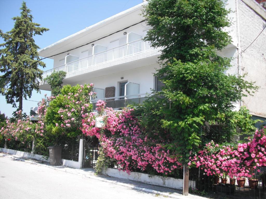
MULTIPOLYGON (((221 0, 149 0, 143 10, 152 27, 144 39, 153 47, 164 46, 155 76, 165 86, 136 114, 147 134, 168 139, 166 147, 184 163, 202 144, 206 122, 230 115, 231 102, 256 89, 241 76, 226 75, 230 60, 216 53, 231 42, 223 31, 230 25, 229 12, 221 0)), ((228 132, 219 141, 232 135, 228 132)))

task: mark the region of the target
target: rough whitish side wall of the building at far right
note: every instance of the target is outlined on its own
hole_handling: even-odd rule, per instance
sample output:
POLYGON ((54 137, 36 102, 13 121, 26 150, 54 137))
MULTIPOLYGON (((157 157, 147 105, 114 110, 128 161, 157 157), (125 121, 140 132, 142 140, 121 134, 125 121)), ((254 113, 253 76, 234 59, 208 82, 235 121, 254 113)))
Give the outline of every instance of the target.
MULTIPOLYGON (((243 1, 238 1, 241 51, 255 40, 266 25, 265 18, 259 15, 256 10, 261 12, 259 5, 251 8, 243 1)), ((265 11, 264 14, 266 15, 265 11)), ((241 51, 239 52, 241 54, 241 73, 248 73, 245 80, 256 81, 255 85, 260 86, 253 97, 243 98, 243 105, 251 113, 266 117, 266 29, 245 52, 241 53, 241 51)))

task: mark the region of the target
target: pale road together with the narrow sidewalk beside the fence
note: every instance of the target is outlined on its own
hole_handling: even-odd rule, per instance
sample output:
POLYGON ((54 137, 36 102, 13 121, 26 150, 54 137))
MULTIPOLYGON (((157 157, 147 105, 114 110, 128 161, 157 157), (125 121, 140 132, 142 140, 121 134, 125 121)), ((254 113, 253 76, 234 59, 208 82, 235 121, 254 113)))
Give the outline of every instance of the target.
POLYGON ((23 198, 19 197, 20 195, 16 195, 18 189, 15 189, 16 191, 13 192, 13 194, 10 188, 24 185, 26 185, 26 187, 21 190, 19 189, 19 192, 24 193, 23 190, 29 189, 26 193, 30 193, 30 196, 34 196, 34 198, 34 194, 36 193, 38 193, 36 198, 47 198, 47 194, 49 194, 51 198, 76 198, 76 196, 79 196, 79 198, 87 198, 85 197, 86 195, 90 198, 92 196, 95 198, 113 198, 114 193, 116 193, 114 198, 124 198, 126 193, 130 194, 130 196, 126 196, 126 198, 131 198, 131 196, 132 198, 154 198, 155 196, 179 199, 203 198, 195 195, 182 196, 182 192, 175 189, 103 175, 95 176, 94 171, 88 168, 74 169, 65 166, 51 166, 46 162, 6 153, 0 153, 0 157, 2 157, 0 158, 1 189, 4 188, 5 190, 9 190, 4 192, 5 195, 2 195, 3 193, 0 191, 0 198, 23 198), (6 178, 7 176, 8 178, 6 178), (24 180, 16 180, 15 178, 24 180), (27 184, 23 183, 23 181, 34 183, 27 184), (49 181, 52 181, 52 184, 49 185, 49 181), (73 183, 75 185, 73 185, 73 183), (39 186, 37 186, 37 184, 39 184, 39 186), (60 186, 56 188, 57 185, 60 186), (87 185, 94 191, 91 192, 87 190, 87 188, 85 188, 87 185), (45 191, 43 192, 43 189, 38 190, 36 187, 44 187, 45 191), (49 187, 52 188, 51 192, 49 191, 49 187), (79 189, 79 187, 83 187, 84 189, 79 189), (33 190, 35 191, 33 192, 33 190))

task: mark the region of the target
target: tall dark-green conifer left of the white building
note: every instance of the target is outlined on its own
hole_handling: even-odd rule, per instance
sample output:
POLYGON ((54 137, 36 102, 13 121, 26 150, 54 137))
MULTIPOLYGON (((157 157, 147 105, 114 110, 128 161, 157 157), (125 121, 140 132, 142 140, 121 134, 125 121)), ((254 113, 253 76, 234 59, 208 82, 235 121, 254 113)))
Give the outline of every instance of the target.
POLYGON ((32 90, 39 91, 39 81, 42 72, 38 66, 45 67, 45 63, 39 61, 37 49, 39 48, 33 39, 35 35, 41 35, 49 29, 39 27, 40 24, 32 22, 31 10, 26 3, 22 3, 21 15, 14 17, 14 28, 0 36, 5 43, 0 44, 0 76, 1 93, 6 96, 6 102, 16 107, 19 102, 19 110, 22 110, 22 98, 31 97, 32 90))

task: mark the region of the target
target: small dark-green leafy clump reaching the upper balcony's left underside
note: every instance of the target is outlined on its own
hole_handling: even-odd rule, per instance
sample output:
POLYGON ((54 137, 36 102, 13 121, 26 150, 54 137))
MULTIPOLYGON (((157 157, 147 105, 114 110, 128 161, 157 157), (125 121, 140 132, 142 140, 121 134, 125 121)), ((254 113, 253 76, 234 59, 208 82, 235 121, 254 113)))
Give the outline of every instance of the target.
POLYGON ((63 79, 65 78, 65 76, 65 71, 54 71, 50 76, 44 79, 44 81, 46 81, 51 86, 53 96, 57 96, 61 93, 63 79))

